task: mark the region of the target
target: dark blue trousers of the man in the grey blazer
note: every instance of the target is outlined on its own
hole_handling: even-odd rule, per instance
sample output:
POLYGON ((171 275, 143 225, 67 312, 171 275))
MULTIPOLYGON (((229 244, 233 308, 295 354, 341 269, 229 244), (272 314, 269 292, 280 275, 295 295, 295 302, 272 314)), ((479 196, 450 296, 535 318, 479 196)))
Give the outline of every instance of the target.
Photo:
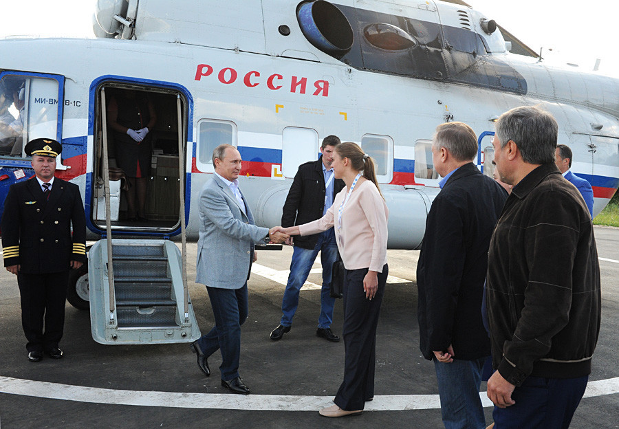
POLYGON ((221 380, 239 377, 241 360, 241 325, 247 319, 247 283, 240 289, 206 287, 210 306, 213 307, 215 326, 198 340, 200 349, 208 357, 221 349, 221 380))

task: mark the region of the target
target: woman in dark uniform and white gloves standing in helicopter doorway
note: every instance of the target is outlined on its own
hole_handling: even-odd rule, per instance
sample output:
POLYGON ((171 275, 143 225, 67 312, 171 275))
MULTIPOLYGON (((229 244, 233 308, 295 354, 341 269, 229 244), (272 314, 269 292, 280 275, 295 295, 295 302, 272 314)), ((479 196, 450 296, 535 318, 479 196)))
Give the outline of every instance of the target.
POLYGON ((107 106, 109 126, 114 131, 116 165, 129 182, 127 218, 146 221, 146 186, 151 177, 152 131, 157 122, 153 102, 142 91, 118 91, 107 106))

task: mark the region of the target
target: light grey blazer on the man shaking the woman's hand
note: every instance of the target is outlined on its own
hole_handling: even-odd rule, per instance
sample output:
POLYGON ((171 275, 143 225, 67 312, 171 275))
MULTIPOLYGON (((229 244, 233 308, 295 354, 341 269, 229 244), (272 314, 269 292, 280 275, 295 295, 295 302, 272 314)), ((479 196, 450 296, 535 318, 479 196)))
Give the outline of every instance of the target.
POLYGON ((217 175, 206 181, 200 192, 195 283, 221 289, 243 287, 254 243, 263 243, 269 234, 268 228, 254 225, 247 204, 246 213, 232 190, 217 175))

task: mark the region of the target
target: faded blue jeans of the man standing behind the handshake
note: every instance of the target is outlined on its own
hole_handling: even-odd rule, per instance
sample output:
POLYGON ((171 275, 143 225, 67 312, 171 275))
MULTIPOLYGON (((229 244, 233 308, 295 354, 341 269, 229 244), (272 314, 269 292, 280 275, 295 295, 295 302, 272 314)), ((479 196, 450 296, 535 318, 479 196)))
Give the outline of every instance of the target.
POLYGON ((298 292, 307 280, 307 276, 310 275, 310 270, 312 270, 319 250, 321 251, 321 263, 323 265, 323 289, 321 291, 321 315, 318 316, 318 327, 331 327, 335 305, 335 298, 331 298, 331 270, 333 263, 338 259, 338 245, 333 228, 318 235, 314 249, 294 247, 292 261, 290 261, 290 275, 281 300, 283 315, 279 323, 282 326, 289 327, 292 325, 292 318, 296 312, 296 307, 298 307, 298 292))

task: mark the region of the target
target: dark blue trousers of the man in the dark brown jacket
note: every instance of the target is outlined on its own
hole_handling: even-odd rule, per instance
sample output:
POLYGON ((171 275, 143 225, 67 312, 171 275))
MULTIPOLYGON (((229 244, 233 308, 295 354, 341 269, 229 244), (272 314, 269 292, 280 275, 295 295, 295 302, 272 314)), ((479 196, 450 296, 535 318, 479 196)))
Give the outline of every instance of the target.
POLYGON ((578 378, 527 377, 514 389, 516 404, 495 406, 495 429, 567 429, 585 394, 589 376, 578 378))

